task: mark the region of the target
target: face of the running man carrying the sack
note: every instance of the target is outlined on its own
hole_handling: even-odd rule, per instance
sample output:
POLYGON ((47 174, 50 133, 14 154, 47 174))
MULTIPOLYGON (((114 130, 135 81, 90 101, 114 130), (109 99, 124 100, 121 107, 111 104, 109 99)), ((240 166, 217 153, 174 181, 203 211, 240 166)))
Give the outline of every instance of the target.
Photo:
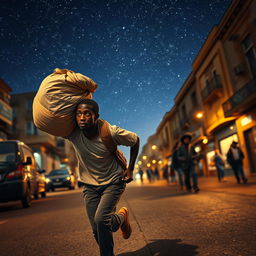
POLYGON ((76 109, 76 122, 80 129, 93 127, 96 121, 93 107, 89 104, 79 104, 76 109))

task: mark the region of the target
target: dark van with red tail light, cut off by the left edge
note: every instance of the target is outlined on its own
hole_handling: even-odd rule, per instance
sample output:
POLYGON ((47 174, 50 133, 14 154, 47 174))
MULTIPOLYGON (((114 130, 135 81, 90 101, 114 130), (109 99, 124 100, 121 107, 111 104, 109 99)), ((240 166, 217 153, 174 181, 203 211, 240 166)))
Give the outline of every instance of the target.
POLYGON ((46 182, 38 171, 30 147, 21 141, 0 141, 0 202, 21 200, 29 207, 32 195, 45 196, 46 182))

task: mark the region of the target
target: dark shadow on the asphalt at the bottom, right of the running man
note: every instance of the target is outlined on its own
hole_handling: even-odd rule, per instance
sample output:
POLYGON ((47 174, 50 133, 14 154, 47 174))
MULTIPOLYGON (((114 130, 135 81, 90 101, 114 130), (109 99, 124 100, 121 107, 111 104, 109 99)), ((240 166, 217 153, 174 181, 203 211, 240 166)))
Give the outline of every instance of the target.
POLYGON ((196 256, 198 246, 183 244, 180 239, 155 240, 145 247, 127 253, 118 254, 118 256, 196 256))

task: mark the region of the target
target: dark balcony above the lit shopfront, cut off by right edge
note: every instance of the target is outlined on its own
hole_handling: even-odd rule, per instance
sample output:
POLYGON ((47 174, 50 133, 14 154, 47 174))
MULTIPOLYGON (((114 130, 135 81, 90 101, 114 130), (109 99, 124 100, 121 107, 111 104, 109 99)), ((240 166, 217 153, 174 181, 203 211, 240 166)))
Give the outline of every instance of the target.
POLYGON ((255 105, 256 79, 251 80, 222 104, 225 117, 236 116, 255 105))

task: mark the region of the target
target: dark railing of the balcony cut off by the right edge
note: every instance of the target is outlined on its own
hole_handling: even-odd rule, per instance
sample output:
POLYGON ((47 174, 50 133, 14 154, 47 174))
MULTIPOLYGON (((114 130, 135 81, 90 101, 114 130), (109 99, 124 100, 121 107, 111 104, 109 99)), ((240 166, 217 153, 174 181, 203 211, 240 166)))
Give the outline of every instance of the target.
POLYGON ((231 115, 235 107, 238 107, 244 102, 247 102, 249 96, 255 95, 256 92, 256 79, 251 80, 244 85, 241 89, 234 93, 226 102, 222 104, 225 116, 231 115))

